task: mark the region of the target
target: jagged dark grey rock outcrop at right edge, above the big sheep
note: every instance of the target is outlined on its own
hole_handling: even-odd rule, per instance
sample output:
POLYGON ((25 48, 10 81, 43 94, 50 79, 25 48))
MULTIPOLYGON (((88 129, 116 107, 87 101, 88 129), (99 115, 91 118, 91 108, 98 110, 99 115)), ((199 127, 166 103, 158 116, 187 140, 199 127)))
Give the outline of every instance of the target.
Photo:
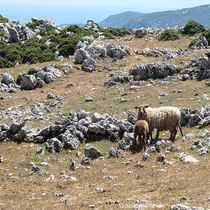
POLYGON ((189 66, 193 69, 185 69, 183 72, 187 79, 204 80, 210 78, 210 51, 198 60, 191 60, 189 66))

